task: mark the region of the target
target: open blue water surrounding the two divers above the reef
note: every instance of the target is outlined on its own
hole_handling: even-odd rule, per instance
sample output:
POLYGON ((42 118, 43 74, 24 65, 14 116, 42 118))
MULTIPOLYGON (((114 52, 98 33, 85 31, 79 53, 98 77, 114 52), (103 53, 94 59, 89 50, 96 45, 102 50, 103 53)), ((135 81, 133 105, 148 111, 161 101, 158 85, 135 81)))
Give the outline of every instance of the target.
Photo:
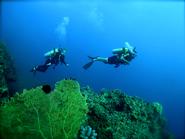
POLYGON ((18 90, 66 77, 94 90, 119 88, 128 95, 158 101, 169 129, 185 138, 185 41, 183 1, 1 1, 0 39, 17 70, 18 90), (128 66, 95 63, 87 56, 111 56, 128 41, 137 57, 128 66), (44 53, 67 49, 63 65, 36 76, 44 53))

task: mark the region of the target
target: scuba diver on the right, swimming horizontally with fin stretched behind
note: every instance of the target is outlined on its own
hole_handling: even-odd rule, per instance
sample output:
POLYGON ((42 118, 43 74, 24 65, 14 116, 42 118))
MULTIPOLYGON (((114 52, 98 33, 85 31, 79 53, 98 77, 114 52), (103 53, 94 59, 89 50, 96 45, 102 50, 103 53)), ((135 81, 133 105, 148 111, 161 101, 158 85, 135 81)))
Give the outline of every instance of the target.
POLYGON ((115 65, 117 68, 120 65, 128 65, 132 59, 136 57, 136 48, 132 47, 128 42, 125 42, 125 47, 113 49, 113 56, 110 57, 90 57, 91 61, 83 66, 84 69, 88 69, 95 61, 100 61, 105 64, 115 65))

